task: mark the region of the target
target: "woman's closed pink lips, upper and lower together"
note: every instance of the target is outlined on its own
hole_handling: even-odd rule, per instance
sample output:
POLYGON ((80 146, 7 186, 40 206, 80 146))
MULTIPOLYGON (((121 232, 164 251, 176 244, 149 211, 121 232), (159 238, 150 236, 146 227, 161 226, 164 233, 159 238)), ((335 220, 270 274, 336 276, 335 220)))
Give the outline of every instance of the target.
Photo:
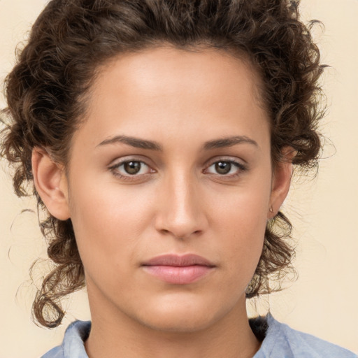
POLYGON ((198 255, 162 255, 143 263, 144 270, 168 283, 186 285, 196 282, 215 267, 198 255))

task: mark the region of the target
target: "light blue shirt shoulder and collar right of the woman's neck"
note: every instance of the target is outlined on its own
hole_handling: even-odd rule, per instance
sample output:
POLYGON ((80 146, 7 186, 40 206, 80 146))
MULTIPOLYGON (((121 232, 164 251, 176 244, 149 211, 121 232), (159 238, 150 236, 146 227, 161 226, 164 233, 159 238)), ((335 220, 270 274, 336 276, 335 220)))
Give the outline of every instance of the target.
POLYGON ((266 337, 255 358, 358 358, 357 355, 320 338, 290 328, 267 317, 266 337))

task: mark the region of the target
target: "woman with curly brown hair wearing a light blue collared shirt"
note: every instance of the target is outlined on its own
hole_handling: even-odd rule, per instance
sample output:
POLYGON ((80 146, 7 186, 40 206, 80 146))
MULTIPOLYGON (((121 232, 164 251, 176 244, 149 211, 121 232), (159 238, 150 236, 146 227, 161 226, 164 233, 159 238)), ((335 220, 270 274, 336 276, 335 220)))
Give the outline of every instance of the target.
POLYGON ((320 154, 322 69, 294 1, 50 1, 2 152, 48 213, 36 320, 86 285, 92 323, 45 358, 356 357, 245 308, 289 268, 280 206, 320 154))

